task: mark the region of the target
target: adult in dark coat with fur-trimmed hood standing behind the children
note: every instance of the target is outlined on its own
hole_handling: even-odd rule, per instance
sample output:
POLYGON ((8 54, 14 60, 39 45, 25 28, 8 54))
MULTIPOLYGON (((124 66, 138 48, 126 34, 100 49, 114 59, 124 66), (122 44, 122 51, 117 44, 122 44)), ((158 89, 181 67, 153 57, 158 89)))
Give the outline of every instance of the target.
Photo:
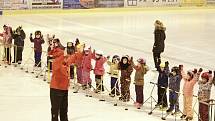
POLYGON ((159 20, 156 20, 155 23, 155 30, 154 30, 154 45, 153 45, 153 58, 155 63, 155 68, 159 68, 161 63, 161 53, 164 52, 165 44, 164 40, 166 39, 165 30, 166 28, 163 26, 163 23, 159 20))

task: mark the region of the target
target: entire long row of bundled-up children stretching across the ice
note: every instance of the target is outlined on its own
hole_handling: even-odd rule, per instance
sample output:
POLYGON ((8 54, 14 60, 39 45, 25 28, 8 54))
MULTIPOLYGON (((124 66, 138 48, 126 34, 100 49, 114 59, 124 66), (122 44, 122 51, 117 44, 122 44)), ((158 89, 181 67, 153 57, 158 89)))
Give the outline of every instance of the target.
MULTIPOLYGON (((25 32, 22 27, 18 27, 14 32, 12 28, 4 25, 4 32, 0 34, 3 37, 3 44, 5 47, 5 56, 7 61, 11 60, 9 49, 11 48, 12 39, 17 49, 14 50, 14 55, 17 55, 14 62, 21 64, 22 51, 24 48, 25 32), (16 54, 15 54, 16 53, 16 54)), ((30 41, 34 43, 34 58, 35 65, 41 67, 41 55, 42 55, 42 44, 45 42, 41 31, 35 32, 35 37, 30 34, 30 41)), ((112 59, 110 56, 105 57, 104 53, 100 50, 93 50, 90 46, 86 46, 79 42, 78 39, 73 42, 68 42, 67 46, 64 47, 60 40, 55 38, 55 35, 47 35, 48 49, 51 51, 51 47, 57 43, 60 49, 66 50, 66 54, 72 60, 70 65, 70 78, 74 78, 76 71, 77 82, 81 84, 83 89, 94 87, 90 78, 90 72, 93 70, 95 74, 96 85, 94 91, 96 93, 104 91, 103 76, 105 75, 104 64, 107 63, 110 67, 108 74, 110 75, 111 91, 110 96, 120 96, 119 100, 128 102, 130 100, 130 84, 131 80, 134 80, 137 108, 140 108, 144 101, 144 75, 149 70, 146 65, 144 58, 139 58, 135 64, 133 57, 128 55, 122 56, 114 55, 112 59), (92 60, 95 60, 95 67, 92 67, 92 60), (135 70, 134 79, 131 79, 131 74, 135 70)), ((47 56, 47 65, 50 64, 50 70, 52 69, 52 56, 47 56)), ((10 63, 10 62, 9 62, 10 63)), ((185 73, 183 66, 174 66, 171 70, 169 69, 169 63, 161 63, 157 68, 159 73, 158 76, 158 102, 156 106, 167 108, 167 91, 169 91, 169 103, 170 107, 167 109, 167 113, 172 112, 175 109, 175 113, 180 112, 179 110, 179 96, 183 94, 184 110, 181 118, 191 120, 193 118, 192 113, 192 100, 193 100, 193 89, 195 84, 199 84, 199 110, 200 119, 206 121, 208 119, 208 107, 205 103, 210 101, 210 92, 212 84, 215 85, 215 76, 212 76, 212 71, 202 73, 202 69, 194 69, 185 73), (201 74, 202 73, 202 74, 201 74), (201 75, 201 79, 199 78, 201 75), (184 80, 183 93, 180 93, 180 83, 184 80), (203 102, 203 103, 202 103, 203 102)))

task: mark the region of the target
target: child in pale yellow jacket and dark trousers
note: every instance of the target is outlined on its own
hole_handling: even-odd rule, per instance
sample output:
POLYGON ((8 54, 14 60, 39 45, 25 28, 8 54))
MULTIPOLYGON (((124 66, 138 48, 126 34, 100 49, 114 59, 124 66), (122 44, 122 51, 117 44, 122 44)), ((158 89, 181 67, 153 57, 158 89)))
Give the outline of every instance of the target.
MULTIPOLYGON (((109 58, 108 58, 109 59, 109 58)), ((114 55, 112 61, 108 60, 107 64, 110 66, 109 74, 111 75, 111 93, 109 94, 111 97, 115 97, 120 95, 119 93, 119 65, 120 57, 118 55, 114 55)))

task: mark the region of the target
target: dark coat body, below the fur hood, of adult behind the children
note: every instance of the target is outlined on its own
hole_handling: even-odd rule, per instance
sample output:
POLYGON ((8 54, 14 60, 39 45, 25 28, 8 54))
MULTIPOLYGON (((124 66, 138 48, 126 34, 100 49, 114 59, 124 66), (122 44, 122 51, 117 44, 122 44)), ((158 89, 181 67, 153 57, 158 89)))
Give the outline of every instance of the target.
POLYGON ((164 40, 166 39, 166 34, 164 29, 155 29, 154 31, 154 46, 153 53, 162 53, 164 52, 165 44, 164 40))

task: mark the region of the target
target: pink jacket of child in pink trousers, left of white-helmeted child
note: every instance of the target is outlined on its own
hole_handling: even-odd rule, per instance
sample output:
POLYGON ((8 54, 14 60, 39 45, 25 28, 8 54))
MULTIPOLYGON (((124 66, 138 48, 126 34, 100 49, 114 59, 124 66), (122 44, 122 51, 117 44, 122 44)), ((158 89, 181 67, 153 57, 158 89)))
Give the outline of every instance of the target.
POLYGON ((92 52, 90 51, 89 54, 86 56, 83 56, 83 60, 82 60, 82 69, 83 71, 91 71, 92 69, 92 65, 91 65, 91 59, 92 59, 93 55, 92 52))

